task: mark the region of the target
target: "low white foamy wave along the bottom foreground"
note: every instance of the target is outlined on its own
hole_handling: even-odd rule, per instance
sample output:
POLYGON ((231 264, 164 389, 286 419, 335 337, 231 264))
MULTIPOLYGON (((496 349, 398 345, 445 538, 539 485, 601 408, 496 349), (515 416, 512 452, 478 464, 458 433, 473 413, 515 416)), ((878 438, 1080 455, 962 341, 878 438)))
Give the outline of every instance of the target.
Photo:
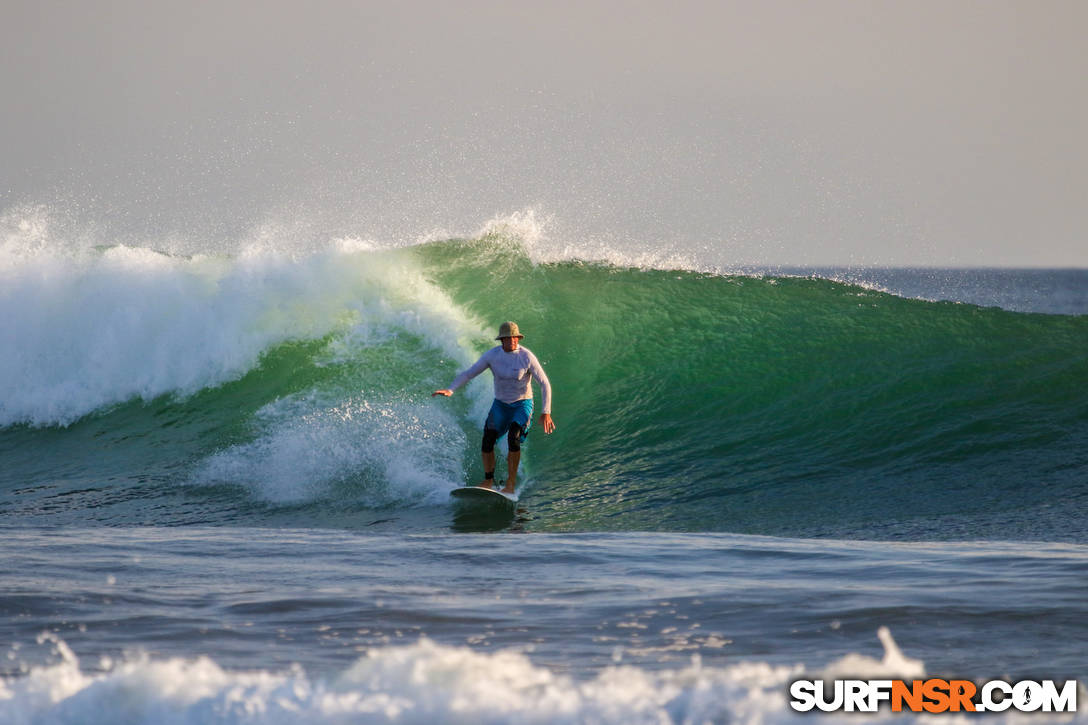
MULTIPOLYGON (((882 661, 851 654, 831 663, 827 676, 842 667, 856 677, 922 676, 920 663, 903 658, 890 635, 881 635, 882 661)), ((55 636, 39 642, 52 644, 58 661, 0 677, 5 722, 145 723, 165 713, 175 723, 777 723, 803 717, 787 702, 789 684, 804 674, 800 665, 710 667, 695 659, 687 667, 651 671, 623 665, 617 653, 615 666, 580 681, 521 652, 477 652, 422 639, 373 649, 344 672, 322 678, 298 666, 235 672, 209 658, 147 655, 103 659, 88 671, 55 636)))

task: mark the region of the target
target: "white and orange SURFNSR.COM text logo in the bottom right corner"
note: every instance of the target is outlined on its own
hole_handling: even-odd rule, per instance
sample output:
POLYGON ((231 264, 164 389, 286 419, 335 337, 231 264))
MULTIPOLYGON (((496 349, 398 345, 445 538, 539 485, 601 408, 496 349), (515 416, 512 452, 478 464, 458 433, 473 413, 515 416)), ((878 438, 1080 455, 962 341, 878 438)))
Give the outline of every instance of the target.
POLYGON ((790 685, 790 706, 798 712, 1076 712, 1077 680, 1000 679, 981 686, 967 679, 799 679, 790 685))

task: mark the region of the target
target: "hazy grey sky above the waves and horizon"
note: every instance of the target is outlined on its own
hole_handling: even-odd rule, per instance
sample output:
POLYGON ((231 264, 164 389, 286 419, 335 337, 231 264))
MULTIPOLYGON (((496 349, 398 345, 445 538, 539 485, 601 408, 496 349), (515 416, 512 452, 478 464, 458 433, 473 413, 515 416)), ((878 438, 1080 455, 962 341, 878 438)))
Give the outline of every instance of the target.
MULTIPOLYGON (((8 0, 0 207, 1088 267, 1088 2, 8 0)), ((317 230, 317 231, 313 231, 317 230)))

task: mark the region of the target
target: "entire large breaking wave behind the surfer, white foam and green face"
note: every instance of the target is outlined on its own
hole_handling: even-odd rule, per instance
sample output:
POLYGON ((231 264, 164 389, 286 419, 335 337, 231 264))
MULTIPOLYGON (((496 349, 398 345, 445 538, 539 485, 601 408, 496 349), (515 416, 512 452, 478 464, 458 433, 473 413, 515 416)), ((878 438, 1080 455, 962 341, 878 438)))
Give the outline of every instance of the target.
POLYGON ((109 431, 145 478, 170 458, 172 487, 271 505, 436 503, 479 475, 490 381, 429 393, 515 319, 555 384, 559 428, 524 463, 551 527, 915 538, 969 512, 1048 538, 1083 495, 1088 317, 583 261, 532 222, 231 256, 23 230, 0 265, 0 425, 27 460, 45 430, 109 431))

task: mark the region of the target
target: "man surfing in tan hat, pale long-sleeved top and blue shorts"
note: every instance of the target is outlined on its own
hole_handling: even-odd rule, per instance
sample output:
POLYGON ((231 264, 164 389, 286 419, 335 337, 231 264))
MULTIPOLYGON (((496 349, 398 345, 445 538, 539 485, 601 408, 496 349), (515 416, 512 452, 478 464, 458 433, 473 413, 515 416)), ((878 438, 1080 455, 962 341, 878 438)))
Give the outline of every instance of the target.
POLYGON ((504 493, 514 493, 518 482, 518 464, 521 463, 521 444, 529 434, 533 419, 533 389, 531 379, 535 378, 541 386, 544 398, 544 410, 541 413, 541 426, 545 433, 555 430, 552 421, 552 383, 544 374, 540 360, 528 347, 521 346, 523 334, 518 330, 517 322, 504 322, 498 328, 498 340, 502 345, 495 345, 480 356, 468 369, 461 371, 454 382, 444 390, 431 393, 449 397, 454 391, 475 378, 485 369, 491 368, 495 380, 495 402, 483 425, 483 482, 479 486, 492 488, 495 480, 495 442, 506 435, 509 454, 506 456, 506 488, 504 493))

